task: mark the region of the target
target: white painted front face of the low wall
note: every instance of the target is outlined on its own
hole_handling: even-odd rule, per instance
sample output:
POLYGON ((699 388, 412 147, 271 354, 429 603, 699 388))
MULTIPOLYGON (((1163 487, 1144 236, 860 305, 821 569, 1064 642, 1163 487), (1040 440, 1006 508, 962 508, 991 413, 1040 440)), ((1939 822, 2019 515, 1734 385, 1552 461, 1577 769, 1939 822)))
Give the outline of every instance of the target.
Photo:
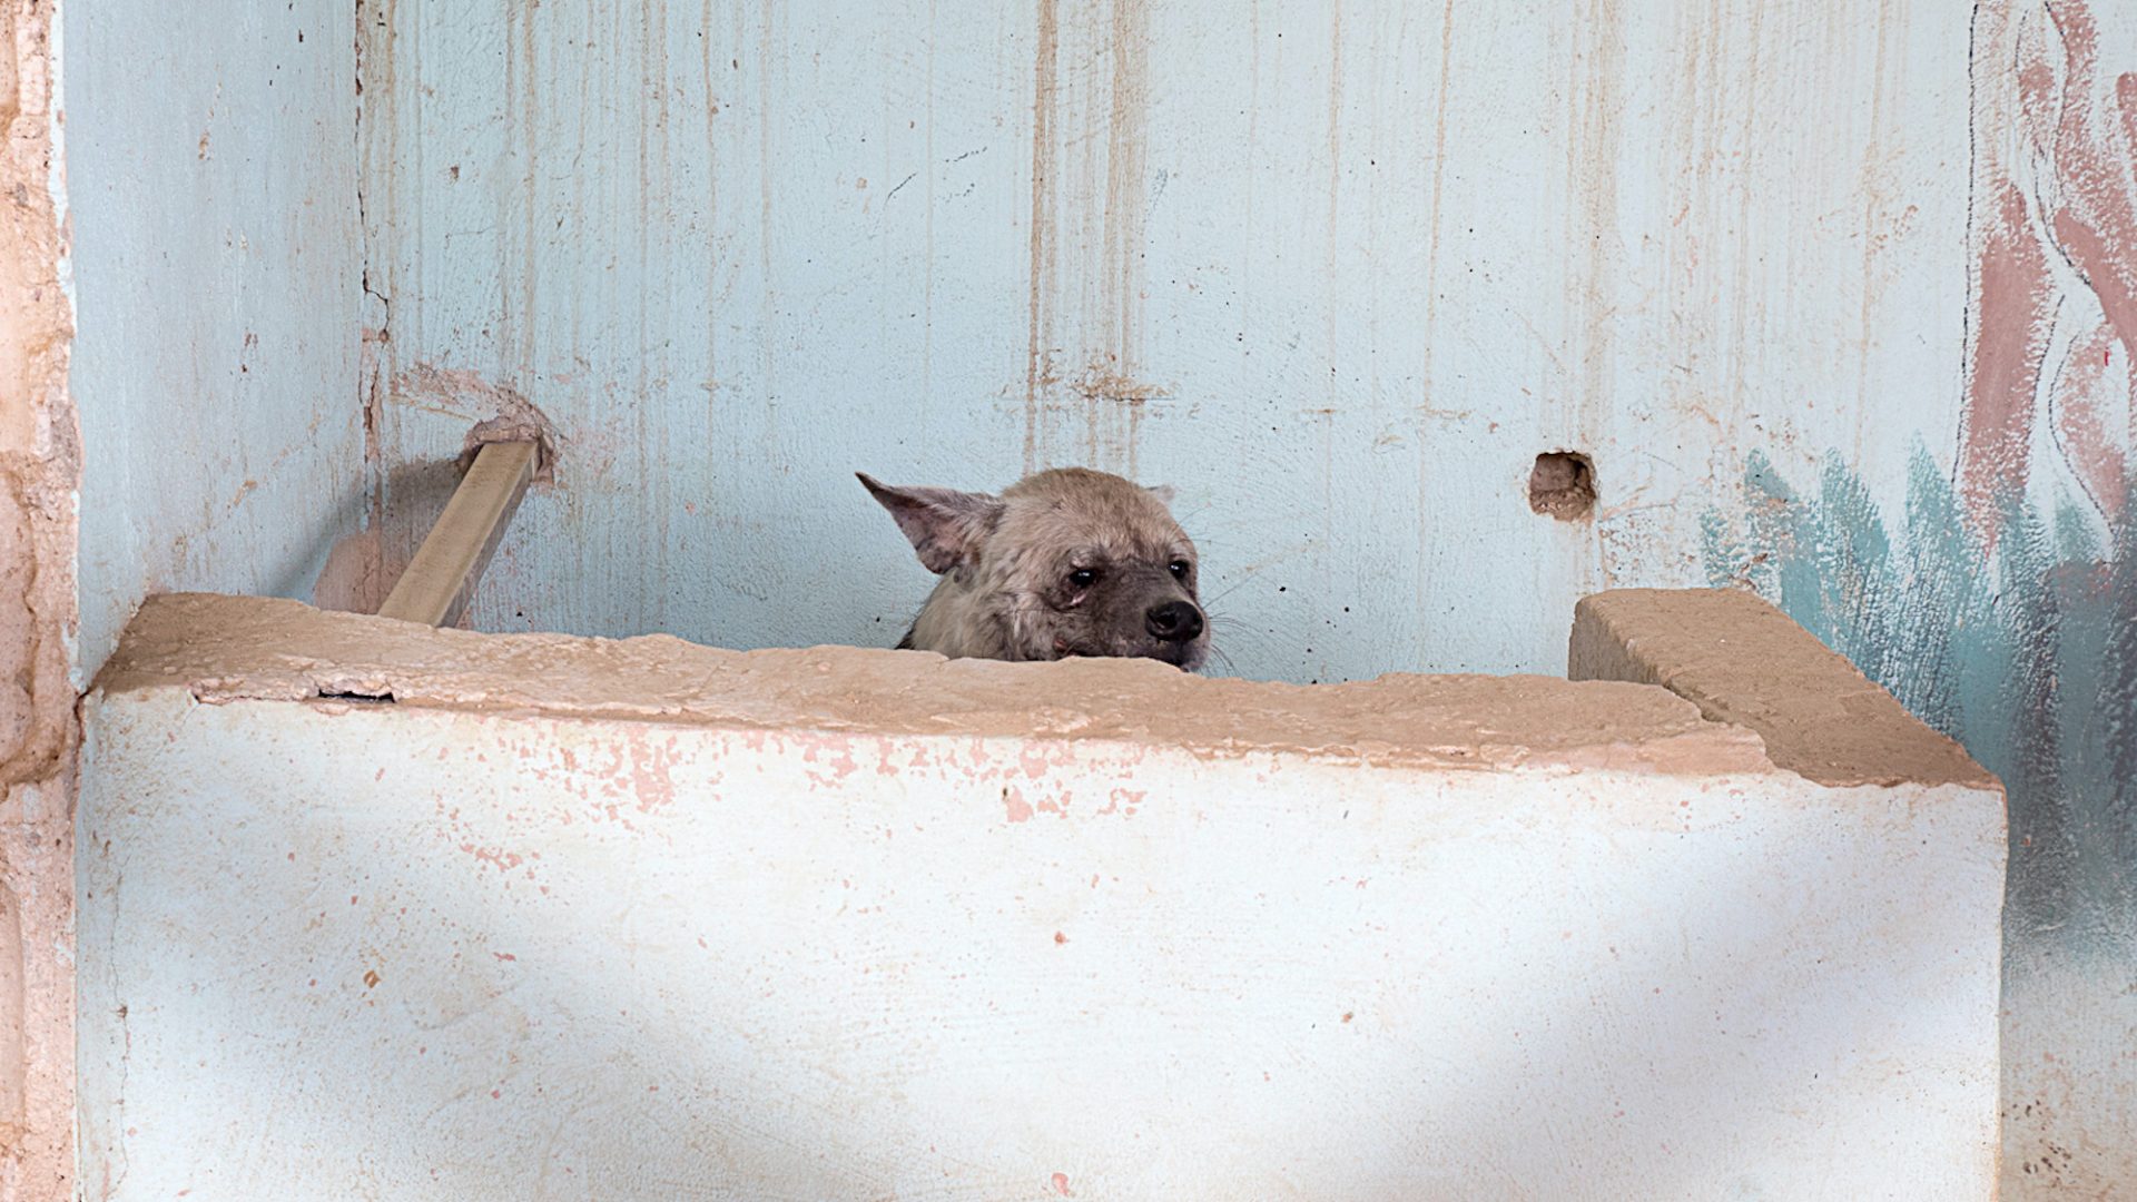
POLYGON ((98 1198, 1992 1196, 1994 793, 88 727, 98 1198))

